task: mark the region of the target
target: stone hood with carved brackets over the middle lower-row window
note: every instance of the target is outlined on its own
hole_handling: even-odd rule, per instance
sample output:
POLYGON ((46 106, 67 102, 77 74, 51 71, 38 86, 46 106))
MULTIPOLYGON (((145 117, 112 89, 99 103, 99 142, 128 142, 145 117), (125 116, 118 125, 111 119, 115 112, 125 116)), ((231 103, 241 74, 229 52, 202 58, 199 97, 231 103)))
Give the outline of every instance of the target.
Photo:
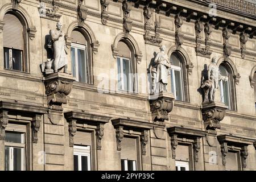
MULTIPOLYGON (((117 138, 117 151, 121 151, 121 142, 125 136, 133 136, 137 137, 138 143, 141 145, 141 155, 146 155, 146 145, 150 136, 148 134, 148 130, 154 128, 154 123, 148 123, 147 121, 135 121, 130 118, 113 118, 112 124, 115 128, 115 136, 117 138), (134 133, 134 134, 133 134, 134 133), (141 141, 141 142, 139 142, 141 141)), ((121 159, 120 159, 121 160, 121 159)), ((137 169, 141 170, 142 160, 137 160, 137 169)))

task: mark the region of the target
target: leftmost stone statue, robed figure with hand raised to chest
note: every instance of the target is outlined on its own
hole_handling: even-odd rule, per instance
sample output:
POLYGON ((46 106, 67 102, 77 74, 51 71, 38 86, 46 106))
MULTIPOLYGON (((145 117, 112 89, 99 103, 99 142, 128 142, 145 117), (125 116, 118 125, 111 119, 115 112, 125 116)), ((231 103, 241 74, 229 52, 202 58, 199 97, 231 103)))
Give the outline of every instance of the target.
POLYGON ((56 30, 50 30, 54 51, 53 69, 54 72, 59 72, 62 68, 64 68, 64 73, 68 73, 68 52, 66 50, 65 36, 61 30, 62 24, 60 22, 57 22, 56 26, 56 30))

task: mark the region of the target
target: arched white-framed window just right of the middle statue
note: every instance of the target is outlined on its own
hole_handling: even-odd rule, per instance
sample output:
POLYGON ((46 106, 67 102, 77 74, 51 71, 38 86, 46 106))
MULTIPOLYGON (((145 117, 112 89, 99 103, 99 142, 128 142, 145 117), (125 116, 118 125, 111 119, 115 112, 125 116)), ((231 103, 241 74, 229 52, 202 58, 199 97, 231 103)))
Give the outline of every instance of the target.
POLYGON ((179 53, 174 52, 171 55, 171 87, 172 93, 174 93, 175 99, 179 101, 185 101, 184 92, 184 69, 182 58, 179 53))

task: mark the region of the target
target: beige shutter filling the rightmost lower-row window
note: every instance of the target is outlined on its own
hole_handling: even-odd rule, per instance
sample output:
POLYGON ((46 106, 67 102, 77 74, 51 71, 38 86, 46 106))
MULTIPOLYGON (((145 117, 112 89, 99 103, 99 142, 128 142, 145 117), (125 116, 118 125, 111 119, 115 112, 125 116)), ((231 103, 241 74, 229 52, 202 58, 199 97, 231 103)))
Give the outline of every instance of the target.
POLYGON ((240 170, 240 157, 238 151, 228 151, 226 154, 226 171, 238 171, 240 170))

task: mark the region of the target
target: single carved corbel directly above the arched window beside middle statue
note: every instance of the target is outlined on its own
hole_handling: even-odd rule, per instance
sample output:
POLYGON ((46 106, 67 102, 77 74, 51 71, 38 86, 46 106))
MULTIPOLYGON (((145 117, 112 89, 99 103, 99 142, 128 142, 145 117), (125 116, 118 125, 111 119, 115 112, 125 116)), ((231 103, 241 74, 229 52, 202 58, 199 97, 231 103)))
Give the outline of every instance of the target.
POLYGON ((181 47, 181 44, 183 44, 183 34, 181 33, 181 26, 183 24, 183 19, 180 18, 178 15, 175 16, 175 45, 176 49, 179 50, 181 47))

